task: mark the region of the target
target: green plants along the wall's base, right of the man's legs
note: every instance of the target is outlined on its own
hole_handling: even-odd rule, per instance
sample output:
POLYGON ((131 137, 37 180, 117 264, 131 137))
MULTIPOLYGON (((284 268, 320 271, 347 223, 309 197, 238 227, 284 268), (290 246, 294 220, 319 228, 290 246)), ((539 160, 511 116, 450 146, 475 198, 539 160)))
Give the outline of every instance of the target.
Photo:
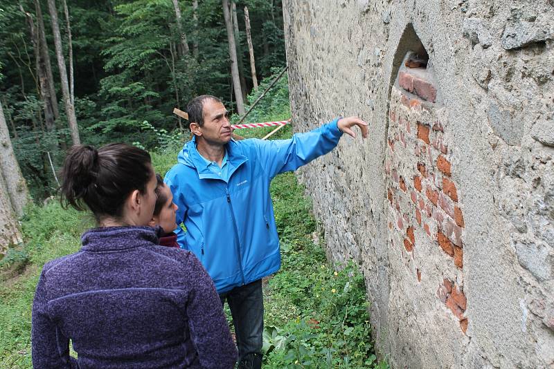
POLYGON ((282 268, 265 288, 267 368, 388 368, 370 343, 364 277, 356 265, 335 269, 314 242, 310 200, 292 173, 271 194, 282 268))

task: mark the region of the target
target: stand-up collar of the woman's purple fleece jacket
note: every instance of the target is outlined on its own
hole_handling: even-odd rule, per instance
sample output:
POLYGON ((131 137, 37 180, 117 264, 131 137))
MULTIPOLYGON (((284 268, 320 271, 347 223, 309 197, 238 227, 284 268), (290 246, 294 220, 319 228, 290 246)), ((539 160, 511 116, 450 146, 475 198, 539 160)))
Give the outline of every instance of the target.
POLYGON ((99 227, 81 236, 82 251, 117 252, 135 247, 157 245, 157 229, 151 227, 99 227))

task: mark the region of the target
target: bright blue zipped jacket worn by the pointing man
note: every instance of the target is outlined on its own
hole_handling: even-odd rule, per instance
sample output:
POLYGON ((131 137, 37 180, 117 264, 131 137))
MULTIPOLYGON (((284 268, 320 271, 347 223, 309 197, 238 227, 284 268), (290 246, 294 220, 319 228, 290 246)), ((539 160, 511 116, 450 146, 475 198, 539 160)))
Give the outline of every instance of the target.
POLYGON ((269 184, 331 151, 342 132, 337 121, 289 140, 232 140, 229 182, 206 167, 195 140, 187 142, 165 177, 179 207, 175 231, 181 248, 193 252, 213 279, 217 292, 277 272, 279 238, 269 184))

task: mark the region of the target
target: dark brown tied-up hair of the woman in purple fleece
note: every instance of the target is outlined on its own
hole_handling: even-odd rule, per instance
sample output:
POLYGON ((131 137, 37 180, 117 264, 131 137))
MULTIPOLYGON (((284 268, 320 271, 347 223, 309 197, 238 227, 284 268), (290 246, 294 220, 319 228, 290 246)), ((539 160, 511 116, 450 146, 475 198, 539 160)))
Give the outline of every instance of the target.
POLYGON ((63 207, 90 209, 96 220, 120 218, 132 191, 145 192, 152 175, 150 154, 128 144, 73 146, 64 161, 60 202, 63 207))

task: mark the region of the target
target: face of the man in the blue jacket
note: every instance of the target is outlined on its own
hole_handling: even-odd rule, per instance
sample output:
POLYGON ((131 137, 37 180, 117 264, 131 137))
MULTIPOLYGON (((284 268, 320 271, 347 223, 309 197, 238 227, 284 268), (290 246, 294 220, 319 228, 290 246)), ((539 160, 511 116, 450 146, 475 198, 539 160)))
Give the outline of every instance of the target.
POLYGON ((229 124, 229 112, 225 106, 212 99, 204 101, 202 109, 204 124, 199 127, 202 137, 210 144, 224 145, 231 141, 231 124, 229 124))

